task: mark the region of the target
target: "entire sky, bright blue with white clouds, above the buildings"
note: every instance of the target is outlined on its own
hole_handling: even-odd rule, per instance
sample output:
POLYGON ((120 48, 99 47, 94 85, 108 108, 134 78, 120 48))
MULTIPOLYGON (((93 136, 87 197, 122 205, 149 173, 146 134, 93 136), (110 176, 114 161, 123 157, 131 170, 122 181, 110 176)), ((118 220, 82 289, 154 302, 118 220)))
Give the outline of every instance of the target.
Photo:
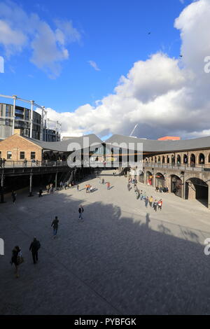
POLYGON ((209 21, 209 0, 0 0, 0 94, 63 136, 209 136, 209 21))

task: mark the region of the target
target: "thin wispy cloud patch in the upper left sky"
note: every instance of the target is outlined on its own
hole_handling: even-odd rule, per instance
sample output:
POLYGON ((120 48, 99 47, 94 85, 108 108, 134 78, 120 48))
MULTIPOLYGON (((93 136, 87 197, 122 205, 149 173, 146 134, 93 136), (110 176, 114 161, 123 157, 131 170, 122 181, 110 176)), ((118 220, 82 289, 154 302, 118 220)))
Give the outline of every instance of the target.
POLYGON ((80 41, 80 33, 71 21, 55 20, 55 29, 36 13, 26 13, 13 1, 0 2, 0 45, 6 56, 31 49, 31 62, 50 78, 56 78, 61 63, 69 58, 67 46, 80 41))

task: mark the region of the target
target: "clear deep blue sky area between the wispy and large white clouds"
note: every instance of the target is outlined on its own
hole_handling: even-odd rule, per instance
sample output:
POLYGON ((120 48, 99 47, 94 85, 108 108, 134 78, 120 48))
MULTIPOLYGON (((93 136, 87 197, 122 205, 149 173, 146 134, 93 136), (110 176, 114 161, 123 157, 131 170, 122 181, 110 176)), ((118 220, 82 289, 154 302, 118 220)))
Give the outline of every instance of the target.
MULTIPOLYGON (((68 45, 69 59, 62 61, 62 71, 56 78, 49 78, 29 61, 30 48, 10 55, 0 76, 2 94, 35 99, 56 111, 74 111, 113 92, 120 76, 134 62, 158 50, 179 57, 181 41, 174 28, 174 20, 183 10, 179 0, 15 2, 27 14, 38 14, 52 29, 55 20, 70 20, 80 33, 80 41, 68 45), (90 60, 100 71, 90 66, 90 60)), ((3 45, 1 54, 5 54, 3 45)))

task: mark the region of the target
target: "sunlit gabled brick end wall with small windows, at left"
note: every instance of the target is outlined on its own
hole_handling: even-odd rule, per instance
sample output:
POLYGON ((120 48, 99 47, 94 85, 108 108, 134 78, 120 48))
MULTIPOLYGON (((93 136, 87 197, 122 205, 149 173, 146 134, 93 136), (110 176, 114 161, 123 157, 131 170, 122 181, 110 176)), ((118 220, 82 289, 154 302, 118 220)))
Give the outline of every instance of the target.
POLYGON ((31 152, 35 152, 35 160, 42 160, 42 148, 18 134, 0 141, 0 157, 5 158, 7 161, 9 161, 8 151, 12 153, 10 158, 12 161, 24 161, 24 159, 20 159, 20 152, 25 152, 25 158, 28 161, 31 161, 31 152))

